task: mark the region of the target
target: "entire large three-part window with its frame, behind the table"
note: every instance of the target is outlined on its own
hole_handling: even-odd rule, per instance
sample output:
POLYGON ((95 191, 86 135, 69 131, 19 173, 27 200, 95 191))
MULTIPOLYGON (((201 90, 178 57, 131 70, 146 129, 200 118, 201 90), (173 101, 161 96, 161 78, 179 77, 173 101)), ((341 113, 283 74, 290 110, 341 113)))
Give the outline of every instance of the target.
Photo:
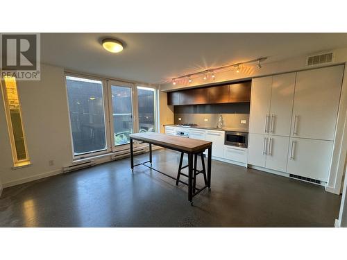
POLYGON ((74 74, 66 85, 75 159, 126 151, 133 132, 157 131, 157 89, 74 74))

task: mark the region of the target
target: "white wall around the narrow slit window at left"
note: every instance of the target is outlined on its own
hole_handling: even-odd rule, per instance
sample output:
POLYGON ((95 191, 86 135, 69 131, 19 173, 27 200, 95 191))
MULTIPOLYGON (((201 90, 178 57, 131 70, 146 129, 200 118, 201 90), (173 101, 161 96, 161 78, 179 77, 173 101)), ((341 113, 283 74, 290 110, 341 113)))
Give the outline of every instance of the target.
MULTIPOLYGON (((71 137, 64 69, 42 64, 40 81, 18 81, 31 166, 12 169, 3 101, 0 104, 0 178, 3 187, 60 173, 71 165, 71 137), (54 165, 49 166, 49 160, 54 165)), ((2 96, 1 96, 2 98, 2 96)))

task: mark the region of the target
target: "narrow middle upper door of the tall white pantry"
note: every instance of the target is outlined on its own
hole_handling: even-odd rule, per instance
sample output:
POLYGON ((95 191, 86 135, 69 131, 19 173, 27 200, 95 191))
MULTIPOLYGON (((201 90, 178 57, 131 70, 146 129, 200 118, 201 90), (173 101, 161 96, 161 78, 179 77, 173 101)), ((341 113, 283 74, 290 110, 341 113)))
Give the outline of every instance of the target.
POLYGON ((296 73, 273 76, 269 134, 289 137, 296 73))

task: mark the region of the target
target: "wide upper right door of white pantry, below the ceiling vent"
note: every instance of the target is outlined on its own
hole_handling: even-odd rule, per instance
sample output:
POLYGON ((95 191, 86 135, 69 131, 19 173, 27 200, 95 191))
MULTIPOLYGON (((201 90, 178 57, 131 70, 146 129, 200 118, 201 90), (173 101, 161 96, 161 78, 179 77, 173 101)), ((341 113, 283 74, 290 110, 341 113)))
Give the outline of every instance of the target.
POLYGON ((292 137, 334 140, 343 74, 344 65, 296 73, 292 137))

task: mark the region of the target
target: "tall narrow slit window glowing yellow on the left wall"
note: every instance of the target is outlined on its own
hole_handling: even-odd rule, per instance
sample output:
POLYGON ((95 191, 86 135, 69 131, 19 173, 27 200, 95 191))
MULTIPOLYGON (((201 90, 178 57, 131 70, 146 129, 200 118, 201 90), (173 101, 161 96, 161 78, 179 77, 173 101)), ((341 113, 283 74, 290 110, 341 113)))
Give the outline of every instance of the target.
POLYGON ((30 164, 26 148, 26 138, 22 122, 22 111, 17 92, 17 82, 13 77, 3 80, 3 101, 8 123, 8 133, 12 146, 12 157, 15 166, 30 164))

